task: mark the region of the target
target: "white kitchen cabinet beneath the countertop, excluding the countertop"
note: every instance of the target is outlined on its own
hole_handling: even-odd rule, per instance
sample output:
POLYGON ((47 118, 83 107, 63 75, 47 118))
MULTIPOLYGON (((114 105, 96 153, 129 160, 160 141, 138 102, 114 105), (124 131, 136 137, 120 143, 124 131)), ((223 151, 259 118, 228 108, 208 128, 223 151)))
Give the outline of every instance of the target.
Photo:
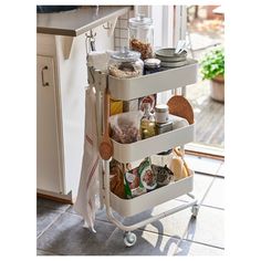
MULTIPOLYGON (((113 50, 103 27, 97 50, 113 50)), ((38 192, 74 200, 82 169, 87 85, 85 35, 38 33, 38 192), (71 44, 72 43, 72 44, 71 44), (44 66, 49 70, 43 70, 44 66), (49 86, 42 86, 49 81, 49 86)))

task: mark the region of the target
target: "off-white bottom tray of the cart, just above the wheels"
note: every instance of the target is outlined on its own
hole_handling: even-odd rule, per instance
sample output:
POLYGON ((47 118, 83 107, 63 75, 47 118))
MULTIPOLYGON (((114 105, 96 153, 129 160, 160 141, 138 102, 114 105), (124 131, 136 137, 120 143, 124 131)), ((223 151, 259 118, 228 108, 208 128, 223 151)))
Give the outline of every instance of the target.
POLYGON ((111 192, 109 200, 112 208, 122 217, 130 217, 154 208, 160 203, 180 197, 190 192, 194 189, 194 171, 190 170, 190 176, 171 182, 150 192, 140 195, 133 199, 122 199, 111 192))

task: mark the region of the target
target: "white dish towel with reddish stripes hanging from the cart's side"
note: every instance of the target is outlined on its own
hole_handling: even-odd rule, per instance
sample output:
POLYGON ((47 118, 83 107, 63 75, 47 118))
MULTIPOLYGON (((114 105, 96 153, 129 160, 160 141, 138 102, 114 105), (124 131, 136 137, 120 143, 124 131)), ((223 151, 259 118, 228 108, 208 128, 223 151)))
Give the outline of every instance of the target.
MULTIPOLYGON (((105 70, 108 61, 108 53, 92 52, 88 54, 88 66, 105 70)), ((96 118, 96 95, 93 83, 85 93, 85 139, 82 161, 82 173, 79 185, 77 198, 74 209, 84 219, 84 227, 93 232, 95 213, 98 208, 100 182, 98 182, 98 135, 96 118)))

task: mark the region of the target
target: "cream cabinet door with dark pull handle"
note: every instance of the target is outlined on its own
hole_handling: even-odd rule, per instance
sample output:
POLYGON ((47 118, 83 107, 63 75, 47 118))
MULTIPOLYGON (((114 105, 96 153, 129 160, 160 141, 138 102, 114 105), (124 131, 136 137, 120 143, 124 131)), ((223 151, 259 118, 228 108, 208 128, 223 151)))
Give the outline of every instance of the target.
POLYGON ((38 189, 63 192, 53 58, 38 55, 36 81, 38 189))

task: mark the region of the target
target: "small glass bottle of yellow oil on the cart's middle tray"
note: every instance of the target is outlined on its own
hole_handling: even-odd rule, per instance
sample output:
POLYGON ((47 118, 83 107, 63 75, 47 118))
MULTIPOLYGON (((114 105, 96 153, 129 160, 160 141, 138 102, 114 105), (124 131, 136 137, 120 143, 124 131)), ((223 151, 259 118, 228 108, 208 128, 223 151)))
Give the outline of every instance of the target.
POLYGON ((142 138, 149 138, 156 135, 155 133, 155 117, 150 112, 150 104, 144 104, 144 116, 140 121, 142 138))

